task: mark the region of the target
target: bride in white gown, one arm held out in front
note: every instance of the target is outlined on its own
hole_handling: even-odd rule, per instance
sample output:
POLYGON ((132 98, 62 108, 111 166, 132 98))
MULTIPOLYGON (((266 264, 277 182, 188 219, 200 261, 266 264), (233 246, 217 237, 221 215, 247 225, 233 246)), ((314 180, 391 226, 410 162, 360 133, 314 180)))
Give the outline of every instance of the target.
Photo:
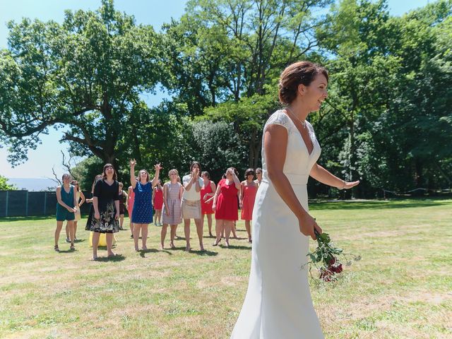
POLYGON ((338 189, 345 182, 317 165, 321 148, 306 121, 327 97, 328 73, 309 61, 288 66, 280 76, 279 98, 286 106, 263 128, 263 178, 253 211, 253 246, 248 291, 233 339, 323 338, 314 310, 307 270, 309 236, 321 228, 309 215, 307 181, 338 189), (301 232, 301 234, 300 234, 301 232))

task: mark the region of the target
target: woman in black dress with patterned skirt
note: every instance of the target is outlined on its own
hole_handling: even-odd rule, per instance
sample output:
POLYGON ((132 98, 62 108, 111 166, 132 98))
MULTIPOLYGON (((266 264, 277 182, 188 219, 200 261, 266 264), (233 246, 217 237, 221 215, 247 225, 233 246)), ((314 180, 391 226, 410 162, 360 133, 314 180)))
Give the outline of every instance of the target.
POLYGON ((97 259, 97 245, 100 233, 105 233, 107 255, 114 256, 112 251, 113 233, 119 232, 119 183, 113 165, 106 164, 101 179, 94 186, 93 218, 89 218, 87 230, 93 231, 93 259, 97 259))

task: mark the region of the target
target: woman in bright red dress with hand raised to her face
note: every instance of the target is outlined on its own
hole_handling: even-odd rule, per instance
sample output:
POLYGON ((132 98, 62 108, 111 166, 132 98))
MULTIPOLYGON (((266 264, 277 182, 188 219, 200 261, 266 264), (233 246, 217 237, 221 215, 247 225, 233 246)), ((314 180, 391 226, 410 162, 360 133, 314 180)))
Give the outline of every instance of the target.
POLYGON ((231 234, 234 220, 239 219, 237 210, 237 194, 240 189, 239 173, 234 167, 226 171, 226 179, 220 180, 213 196, 212 209, 215 210, 215 233, 217 238, 213 246, 217 246, 221 241, 221 232, 225 229, 226 247, 229 247, 229 236, 231 234))

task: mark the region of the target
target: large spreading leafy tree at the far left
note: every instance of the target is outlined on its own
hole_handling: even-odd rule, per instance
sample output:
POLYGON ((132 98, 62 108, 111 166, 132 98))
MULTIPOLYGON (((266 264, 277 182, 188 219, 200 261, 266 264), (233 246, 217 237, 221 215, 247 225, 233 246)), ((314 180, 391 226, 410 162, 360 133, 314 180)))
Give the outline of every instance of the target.
MULTIPOLYGON (((140 93, 159 81, 158 35, 102 0, 97 11, 66 11, 64 22, 8 23, 0 52, 0 137, 13 164, 40 135, 64 128, 75 155, 116 163, 143 112, 140 93), (122 149, 121 149, 122 147, 122 149)), ((134 153, 134 152, 132 152, 134 153)))

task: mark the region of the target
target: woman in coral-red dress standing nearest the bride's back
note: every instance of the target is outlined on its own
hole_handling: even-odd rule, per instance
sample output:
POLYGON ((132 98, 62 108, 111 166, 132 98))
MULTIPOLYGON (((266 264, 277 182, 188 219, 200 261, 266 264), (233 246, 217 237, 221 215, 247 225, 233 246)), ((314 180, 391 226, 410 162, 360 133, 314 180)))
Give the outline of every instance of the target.
POLYGON ((253 181, 254 169, 249 168, 245 171, 245 179, 240 189, 240 208, 242 208, 242 220, 245 220, 246 233, 248 233, 248 242, 251 242, 251 220, 253 220, 254 200, 258 184, 253 181))

